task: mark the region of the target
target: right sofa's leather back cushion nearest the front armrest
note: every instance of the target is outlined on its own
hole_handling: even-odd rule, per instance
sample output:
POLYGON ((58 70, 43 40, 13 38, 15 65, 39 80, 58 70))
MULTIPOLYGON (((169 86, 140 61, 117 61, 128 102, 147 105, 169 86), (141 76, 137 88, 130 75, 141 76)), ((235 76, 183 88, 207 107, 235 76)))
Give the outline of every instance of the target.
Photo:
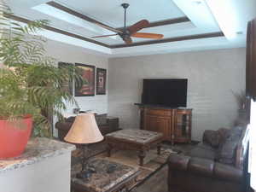
POLYGON ((235 126, 230 130, 230 136, 218 148, 217 160, 224 164, 235 164, 236 147, 240 141, 243 127, 235 126))

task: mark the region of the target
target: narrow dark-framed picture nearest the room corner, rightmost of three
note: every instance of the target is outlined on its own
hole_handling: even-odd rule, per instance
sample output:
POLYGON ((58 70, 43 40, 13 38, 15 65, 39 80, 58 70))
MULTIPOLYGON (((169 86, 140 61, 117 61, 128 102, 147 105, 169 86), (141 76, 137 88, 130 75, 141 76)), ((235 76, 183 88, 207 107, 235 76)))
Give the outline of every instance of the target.
POLYGON ((104 68, 96 69, 96 94, 106 95, 107 70, 104 68))

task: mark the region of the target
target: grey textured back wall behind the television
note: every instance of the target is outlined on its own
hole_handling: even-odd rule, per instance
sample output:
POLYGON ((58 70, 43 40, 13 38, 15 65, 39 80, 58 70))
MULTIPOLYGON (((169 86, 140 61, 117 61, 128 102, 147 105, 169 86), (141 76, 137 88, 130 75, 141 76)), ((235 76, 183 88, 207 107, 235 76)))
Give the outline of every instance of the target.
POLYGON ((142 79, 189 79, 188 107, 193 139, 204 130, 230 127, 237 115, 232 90, 245 89, 245 49, 219 49, 166 55, 113 58, 108 61, 108 113, 122 128, 137 128, 134 102, 141 102, 142 79))

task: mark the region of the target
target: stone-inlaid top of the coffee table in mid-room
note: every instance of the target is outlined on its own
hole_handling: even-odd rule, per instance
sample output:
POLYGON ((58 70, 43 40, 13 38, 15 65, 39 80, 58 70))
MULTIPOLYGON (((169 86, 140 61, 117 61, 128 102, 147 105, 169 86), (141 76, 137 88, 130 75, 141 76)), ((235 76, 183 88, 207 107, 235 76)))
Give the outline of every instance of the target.
POLYGON ((120 130, 109 133, 105 137, 114 137, 116 139, 123 139, 136 143, 149 143, 155 139, 163 137, 163 134, 146 130, 120 130))

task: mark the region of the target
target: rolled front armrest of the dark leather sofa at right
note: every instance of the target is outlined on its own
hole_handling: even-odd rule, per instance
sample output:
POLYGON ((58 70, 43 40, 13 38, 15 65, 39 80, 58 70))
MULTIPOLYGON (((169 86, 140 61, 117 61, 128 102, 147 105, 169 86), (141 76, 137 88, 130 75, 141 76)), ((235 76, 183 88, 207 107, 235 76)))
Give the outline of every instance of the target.
POLYGON ((177 170, 213 177, 226 181, 241 182, 242 171, 235 166, 224 165, 213 160, 171 154, 168 158, 169 170, 177 170))

